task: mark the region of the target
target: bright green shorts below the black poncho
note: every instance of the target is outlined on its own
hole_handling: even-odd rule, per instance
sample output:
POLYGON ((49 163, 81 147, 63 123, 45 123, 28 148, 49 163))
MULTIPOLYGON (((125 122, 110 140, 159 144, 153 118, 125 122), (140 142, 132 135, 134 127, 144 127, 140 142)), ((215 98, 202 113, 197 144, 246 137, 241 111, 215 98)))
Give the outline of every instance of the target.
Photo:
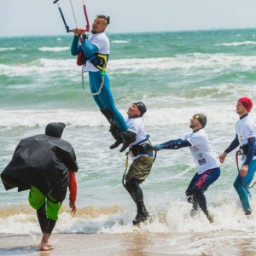
POLYGON ((29 204, 35 209, 38 210, 44 205, 44 201, 46 201, 46 216, 47 218, 58 220, 58 214, 61 209, 61 202, 54 203, 55 199, 48 195, 49 199, 44 196, 39 189, 31 186, 28 201, 29 204))

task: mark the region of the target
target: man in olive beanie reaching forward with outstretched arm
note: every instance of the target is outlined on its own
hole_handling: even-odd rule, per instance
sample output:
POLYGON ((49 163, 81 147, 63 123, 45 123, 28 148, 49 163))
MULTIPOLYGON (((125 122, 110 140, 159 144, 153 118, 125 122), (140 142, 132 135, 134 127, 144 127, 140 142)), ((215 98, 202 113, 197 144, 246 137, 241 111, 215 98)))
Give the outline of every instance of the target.
POLYGON ((189 127, 192 132, 182 138, 171 140, 153 146, 154 150, 179 149, 189 147, 197 172, 189 183, 186 196, 192 204, 191 216, 198 211, 198 206, 204 212, 210 223, 213 222, 212 215, 207 210, 207 199, 204 193, 208 187, 214 183, 220 175, 220 163, 218 156, 212 149, 212 144, 207 136, 204 127, 207 125, 207 116, 204 113, 195 113, 190 119, 189 127))

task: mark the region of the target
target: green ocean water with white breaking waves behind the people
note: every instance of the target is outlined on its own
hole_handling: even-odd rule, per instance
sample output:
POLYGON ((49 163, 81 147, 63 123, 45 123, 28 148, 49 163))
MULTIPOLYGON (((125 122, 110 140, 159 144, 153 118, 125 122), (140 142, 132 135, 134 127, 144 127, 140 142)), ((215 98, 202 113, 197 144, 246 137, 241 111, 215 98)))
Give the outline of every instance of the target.
MULTIPOLYGON (((109 34, 107 73, 116 107, 126 118, 132 102, 148 107, 144 122, 151 141, 163 143, 189 132, 194 113, 206 113, 206 131, 217 154, 235 137, 236 102, 256 102, 256 30, 109 34)), ((122 186, 125 154, 110 150, 108 121, 82 89, 81 68, 70 54, 73 35, 0 38, 0 172, 20 139, 44 133, 49 122, 67 124, 63 138, 73 144, 79 164, 77 215, 67 199, 54 232, 126 233, 136 207, 122 186)), ((89 91, 88 78, 85 77, 89 91)), ((250 113, 256 118, 255 111, 250 113)), ((129 160, 131 163, 131 160, 129 160)), ((194 176, 189 148, 157 153, 142 184, 150 222, 140 229, 158 232, 255 232, 233 188, 235 152, 221 166, 221 176, 206 192, 214 223, 203 214, 189 217, 185 190, 194 176), (226 221, 229 219, 229 221, 226 221)), ((252 208, 256 210, 255 189, 252 208)), ((0 233, 39 233, 28 192, 5 191, 0 183, 0 233)))

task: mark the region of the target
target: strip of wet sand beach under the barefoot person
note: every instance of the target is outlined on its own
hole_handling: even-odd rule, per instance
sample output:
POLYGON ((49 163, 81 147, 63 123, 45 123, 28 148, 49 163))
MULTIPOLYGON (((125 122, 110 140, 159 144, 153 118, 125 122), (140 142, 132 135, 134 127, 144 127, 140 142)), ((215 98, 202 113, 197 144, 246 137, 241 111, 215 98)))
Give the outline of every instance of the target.
POLYGON ((0 234, 0 255, 232 255, 253 256, 253 232, 52 234, 54 250, 40 252, 41 235, 0 234))

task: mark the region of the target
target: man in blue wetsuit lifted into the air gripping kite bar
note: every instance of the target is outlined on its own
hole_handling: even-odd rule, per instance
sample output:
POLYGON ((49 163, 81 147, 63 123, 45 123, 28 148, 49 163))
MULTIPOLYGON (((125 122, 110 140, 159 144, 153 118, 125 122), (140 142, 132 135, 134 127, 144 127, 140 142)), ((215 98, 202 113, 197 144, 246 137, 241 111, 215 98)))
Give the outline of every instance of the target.
POLYGON ((89 73, 91 94, 108 122, 117 125, 121 131, 127 131, 125 119, 115 107, 108 74, 105 73, 109 57, 109 40, 105 29, 109 21, 109 16, 97 15, 90 37, 82 32, 82 29, 74 29, 71 54, 84 58, 84 72, 89 73), (79 42, 80 37, 83 39, 82 43, 79 42))

